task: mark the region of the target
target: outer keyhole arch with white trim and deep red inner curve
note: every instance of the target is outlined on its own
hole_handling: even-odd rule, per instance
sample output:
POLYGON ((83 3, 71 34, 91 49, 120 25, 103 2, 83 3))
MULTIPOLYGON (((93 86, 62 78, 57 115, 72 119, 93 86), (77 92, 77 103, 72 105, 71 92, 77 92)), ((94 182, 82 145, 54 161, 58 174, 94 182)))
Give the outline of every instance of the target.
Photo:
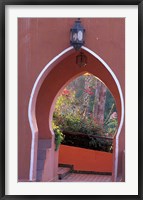
MULTIPOLYGON (((36 180, 38 139, 48 139, 50 141, 51 150, 48 152, 50 165, 45 164, 45 170, 48 167, 53 169, 51 171, 49 169, 49 180, 55 176, 58 163, 57 155, 55 155, 54 148, 52 148, 54 144, 51 128, 52 112, 54 109, 53 101, 55 101, 61 88, 74 76, 83 73, 83 71, 88 71, 101 79, 112 94, 114 94, 117 103, 119 128, 115 137, 113 164, 113 178, 114 180, 117 178, 118 139, 124 121, 124 102, 121 86, 111 68, 96 53, 86 47, 82 47, 82 51, 84 51, 84 54, 88 58, 88 63, 85 68, 80 68, 76 65, 75 57, 78 52, 75 52, 72 47, 69 47, 47 64, 34 84, 28 110, 29 123, 32 131, 29 177, 31 181, 36 180)), ((48 178, 46 179, 48 180, 48 178)))

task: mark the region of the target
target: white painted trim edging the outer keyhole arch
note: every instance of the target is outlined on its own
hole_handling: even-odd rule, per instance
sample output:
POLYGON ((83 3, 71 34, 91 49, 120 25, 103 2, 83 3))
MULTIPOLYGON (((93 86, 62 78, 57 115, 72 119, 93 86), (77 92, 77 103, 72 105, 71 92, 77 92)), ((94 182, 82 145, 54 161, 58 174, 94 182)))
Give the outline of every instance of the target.
MULTIPOLYGON (((35 152, 34 151, 35 151, 36 140, 38 140, 38 127, 37 127, 36 116, 35 116, 36 98, 37 98, 39 89, 40 89, 45 77, 48 74, 49 67, 52 64, 54 64, 54 62, 56 62, 61 56, 63 56, 67 52, 71 51, 72 49, 73 49, 73 47, 69 47, 69 48, 65 49, 60 54, 55 56, 44 67, 44 69, 41 71, 41 73, 37 77, 37 79, 36 79, 36 81, 34 83, 31 95, 30 95, 29 106, 28 106, 28 118, 29 118, 30 128, 31 128, 31 132, 32 132, 31 159, 30 159, 30 172, 29 172, 29 180, 30 181, 34 180, 34 158, 35 158, 35 152)), ((111 68, 107 65, 107 63, 99 55, 97 55, 95 52, 93 52, 92 50, 88 49, 87 47, 82 46, 82 49, 84 49, 85 51, 89 52, 91 55, 93 55, 96 59, 98 59, 105 66, 105 68, 109 71, 109 73, 113 77, 113 79, 114 79, 114 81, 115 81, 115 83, 117 85, 118 91, 119 91, 120 100, 121 100, 121 119, 120 119, 120 124, 119 124, 119 127, 118 127, 118 132, 116 134, 116 141, 115 141, 116 142, 116 148, 115 148, 115 174, 114 174, 114 179, 116 180, 116 178, 117 178, 117 170, 118 170, 119 135, 121 133, 121 129, 122 129, 123 122, 124 122, 124 98, 123 98, 123 93, 122 93, 121 86, 120 86, 120 83, 119 83, 116 75, 111 70, 111 68)))

